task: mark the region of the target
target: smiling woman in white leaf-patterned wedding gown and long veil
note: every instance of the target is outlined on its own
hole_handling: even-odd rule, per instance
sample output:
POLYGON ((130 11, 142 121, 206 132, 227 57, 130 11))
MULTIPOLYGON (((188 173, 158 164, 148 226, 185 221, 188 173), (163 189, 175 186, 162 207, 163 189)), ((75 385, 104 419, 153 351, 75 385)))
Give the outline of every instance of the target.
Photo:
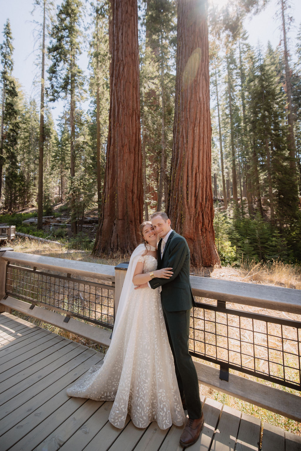
POLYGON ((123 428, 127 414, 138 428, 157 421, 159 428, 185 421, 174 361, 162 313, 159 288, 134 285, 153 277, 168 279, 172 268, 157 270, 157 234, 151 222, 140 226, 144 243, 134 250, 122 288, 111 345, 102 366, 93 366, 69 396, 114 400, 109 421, 123 428))

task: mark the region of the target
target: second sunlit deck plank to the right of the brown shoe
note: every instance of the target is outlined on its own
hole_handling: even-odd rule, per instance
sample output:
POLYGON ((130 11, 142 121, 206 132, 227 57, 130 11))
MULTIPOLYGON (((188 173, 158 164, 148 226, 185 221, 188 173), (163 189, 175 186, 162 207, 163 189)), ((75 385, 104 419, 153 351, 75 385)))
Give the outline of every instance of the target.
POLYGON ((234 450, 240 421, 241 412, 224 405, 211 446, 214 451, 234 450))

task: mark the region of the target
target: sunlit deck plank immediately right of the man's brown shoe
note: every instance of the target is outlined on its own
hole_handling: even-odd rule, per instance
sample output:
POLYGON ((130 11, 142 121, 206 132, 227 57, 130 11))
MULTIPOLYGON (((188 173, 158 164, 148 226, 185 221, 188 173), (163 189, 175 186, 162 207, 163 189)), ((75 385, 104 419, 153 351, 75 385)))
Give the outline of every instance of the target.
POLYGON ((191 451, 208 451, 210 450, 212 438, 218 425, 222 411, 222 404, 213 399, 207 398, 204 406, 204 428, 199 436, 199 439, 189 449, 191 451))

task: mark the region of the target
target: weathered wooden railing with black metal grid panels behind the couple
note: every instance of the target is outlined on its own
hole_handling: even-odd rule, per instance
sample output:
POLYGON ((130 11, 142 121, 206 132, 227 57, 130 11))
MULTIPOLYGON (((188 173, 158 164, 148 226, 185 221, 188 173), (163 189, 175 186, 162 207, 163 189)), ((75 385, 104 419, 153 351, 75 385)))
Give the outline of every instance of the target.
MULTIPOLYGON (((126 267, 1 249, 0 311, 14 309, 109 346, 126 267)), ((301 290, 190 281, 197 303, 190 352, 199 381, 301 421, 301 290)))

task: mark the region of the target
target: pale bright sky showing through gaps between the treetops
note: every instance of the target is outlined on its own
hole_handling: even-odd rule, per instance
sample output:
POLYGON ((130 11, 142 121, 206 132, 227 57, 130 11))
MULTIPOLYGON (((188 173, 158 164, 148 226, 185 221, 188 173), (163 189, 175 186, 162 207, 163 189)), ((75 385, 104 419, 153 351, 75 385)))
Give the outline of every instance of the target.
MULTIPOLYGON (((218 5, 222 5, 226 0, 213 0, 218 5)), ((55 4, 60 4, 60 0, 54 0, 55 4)), ((262 13, 252 18, 245 20, 245 28, 249 33, 249 42, 251 46, 257 46, 258 42, 265 47, 270 41, 273 48, 275 48, 281 39, 280 22, 275 17, 278 0, 269 0, 269 4, 262 13)), ((291 0, 292 8, 290 15, 295 19, 288 32, 290 39, 290 49, 293 55, 296 45, 296 34, 301 24, 301 1, 291 0)), ((30 14, 33 9, 33 0, 0 0, 0 42, 3 42, 3 28, 7 18, 10 20, 12 35, 14 38, 14 77, 19 79, 25 94, 35 96, 39 101, 39 91, 35 89, 33 79, 37 74, 37 68, 34 65, 36 58, 33 53, 34 37, 33 29, 35 25, 32 20, 35 18, 41 21, 37 13, 35 16, 30 14)), ((84 51, 80 64, 83 69, 88 66, 87 51, 84 51)), ((88 103, 85 104, 88 107, 88 103)), ((62 102, 53 110, 53 116, 56 119, 62 112, 62 102)))

